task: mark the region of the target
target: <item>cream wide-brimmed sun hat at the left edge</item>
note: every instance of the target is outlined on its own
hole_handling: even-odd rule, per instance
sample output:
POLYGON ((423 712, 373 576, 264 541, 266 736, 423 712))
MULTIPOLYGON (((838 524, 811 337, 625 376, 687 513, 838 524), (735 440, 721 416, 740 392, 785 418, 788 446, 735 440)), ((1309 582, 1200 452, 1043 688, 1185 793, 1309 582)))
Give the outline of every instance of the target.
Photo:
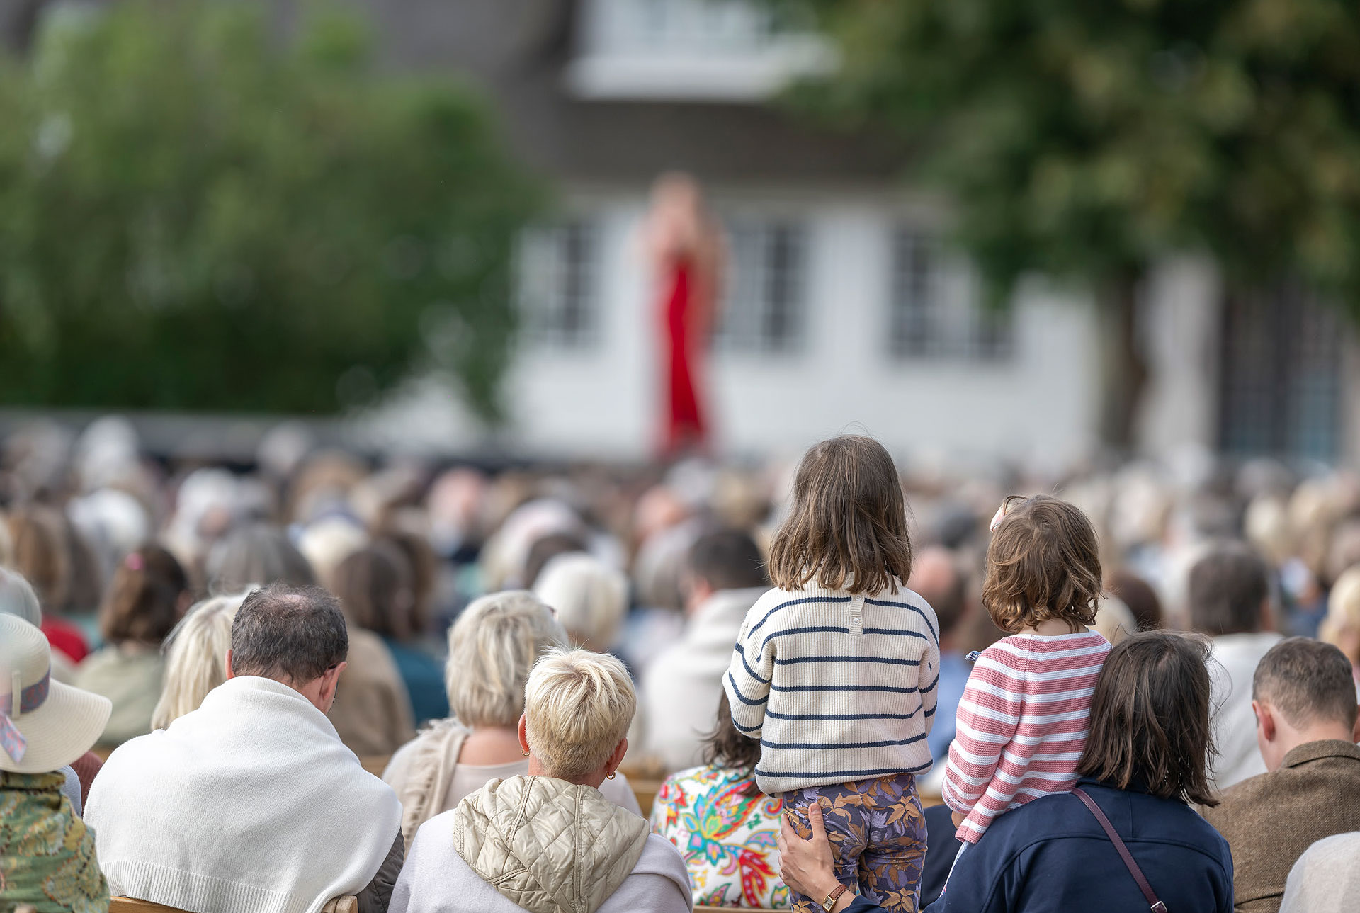
POLYGON ((112 710, 109 698, 54 682, 42 631, 0 615, 0 770, 64 767, 90 750, 112 710))

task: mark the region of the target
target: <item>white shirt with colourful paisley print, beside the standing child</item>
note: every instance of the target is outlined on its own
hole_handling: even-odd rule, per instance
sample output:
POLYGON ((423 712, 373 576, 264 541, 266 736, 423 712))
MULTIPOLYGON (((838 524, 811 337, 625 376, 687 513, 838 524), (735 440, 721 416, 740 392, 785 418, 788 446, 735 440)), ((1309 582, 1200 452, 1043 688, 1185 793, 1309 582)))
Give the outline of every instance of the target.
POLYGON ((694 902, 787 909, 779 880, 779 799, 760 793, 755 776, 730 767, 672 774, 651 807, 651 830, 685 859, 694 902))

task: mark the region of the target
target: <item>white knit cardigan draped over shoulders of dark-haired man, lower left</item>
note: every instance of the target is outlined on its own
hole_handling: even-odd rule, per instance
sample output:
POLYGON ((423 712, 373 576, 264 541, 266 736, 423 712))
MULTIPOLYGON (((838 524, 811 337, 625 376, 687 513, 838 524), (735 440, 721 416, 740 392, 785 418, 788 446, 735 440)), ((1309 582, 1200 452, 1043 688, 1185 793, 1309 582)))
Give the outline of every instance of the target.
POLYGON ((114 751, 86 820, 113 895, 212 913, 317 913, 373 880, 401 806, 303 695, 239 676, 114 751))

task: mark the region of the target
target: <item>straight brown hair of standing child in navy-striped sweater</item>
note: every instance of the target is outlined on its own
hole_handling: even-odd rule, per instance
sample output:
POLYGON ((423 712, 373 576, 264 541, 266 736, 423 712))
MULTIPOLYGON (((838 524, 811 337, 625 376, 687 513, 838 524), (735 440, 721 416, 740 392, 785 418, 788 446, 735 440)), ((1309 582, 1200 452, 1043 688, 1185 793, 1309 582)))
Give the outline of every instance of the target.
POLYGON ((898 467, 870 437, 842 434, 808 450, 793 508, 770 544, 770 581, 851 593, 898 592, 911 577, 911 537, 898 467))

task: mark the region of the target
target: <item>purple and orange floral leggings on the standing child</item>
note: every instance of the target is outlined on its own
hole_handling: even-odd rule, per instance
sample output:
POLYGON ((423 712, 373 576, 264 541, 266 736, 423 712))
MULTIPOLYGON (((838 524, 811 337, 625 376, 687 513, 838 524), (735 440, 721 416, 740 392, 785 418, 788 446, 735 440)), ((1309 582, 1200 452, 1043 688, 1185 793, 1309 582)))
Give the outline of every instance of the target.
MULTIPOLYGON (((926 859, 926 818, 911 774, 806 786, 783 793, 785 815, 804 840, 812 837, 808 806, 821 803, 836 879, 894 913, 917 913, 926 859)), ((823 898, 790 891, 798 913, 821 913, 823 898)))

